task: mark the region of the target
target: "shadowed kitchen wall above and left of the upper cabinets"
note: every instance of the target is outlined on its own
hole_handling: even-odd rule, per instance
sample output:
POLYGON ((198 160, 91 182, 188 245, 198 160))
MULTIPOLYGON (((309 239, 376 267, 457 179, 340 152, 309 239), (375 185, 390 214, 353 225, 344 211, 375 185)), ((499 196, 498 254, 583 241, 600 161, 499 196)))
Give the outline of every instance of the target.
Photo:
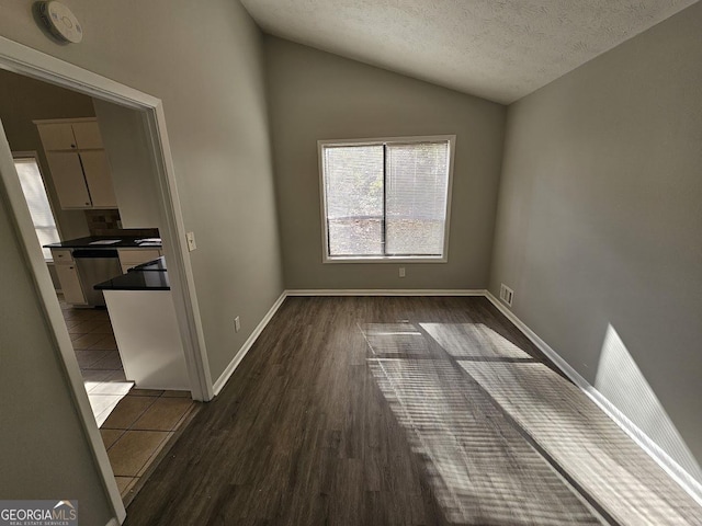
POLYGON ((88 236, 82 210, 63 210, 33 119, 93 117, 92 99, 0 69, 0 121, 12 151, 38 153, 42 173, 63 239, 88 236))

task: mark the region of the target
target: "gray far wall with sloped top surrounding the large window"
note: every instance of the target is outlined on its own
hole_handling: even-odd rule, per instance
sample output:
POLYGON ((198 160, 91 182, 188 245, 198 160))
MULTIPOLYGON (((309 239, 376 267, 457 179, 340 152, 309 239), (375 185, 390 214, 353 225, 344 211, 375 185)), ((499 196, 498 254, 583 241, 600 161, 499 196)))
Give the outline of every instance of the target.
POLYGON ((486 288, 505 107, 271 36, 265 50, 286 287, 486 288), (440 134, 456 135, 449 263, 322 264, 317 140, 440 134))

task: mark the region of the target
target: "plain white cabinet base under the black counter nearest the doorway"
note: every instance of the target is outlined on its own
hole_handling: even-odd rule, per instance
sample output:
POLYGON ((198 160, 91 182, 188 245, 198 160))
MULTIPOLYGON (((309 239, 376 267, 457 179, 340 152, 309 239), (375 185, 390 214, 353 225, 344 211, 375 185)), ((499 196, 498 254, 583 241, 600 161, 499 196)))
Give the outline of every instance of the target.
POLYGON ((103 290, 127 380, 190 390, 170 290, 103 290))

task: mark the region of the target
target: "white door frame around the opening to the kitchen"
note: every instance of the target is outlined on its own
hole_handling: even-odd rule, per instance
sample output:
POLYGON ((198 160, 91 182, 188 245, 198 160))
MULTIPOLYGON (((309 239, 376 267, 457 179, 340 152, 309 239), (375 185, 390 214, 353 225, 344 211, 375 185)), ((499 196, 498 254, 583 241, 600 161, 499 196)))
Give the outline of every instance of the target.
MULTIPOLYGON (((43 80, 89 96, 138 110, 143 113, 150 141, 148 146, 155 160, 155 173, 159 188, 158 205, 161 216, 160 235, 163 239, 163 249, 168 259, 169 281, 188 364, 191 391, 195 400, 211 400, 214 397, 212 377, 207 364, 200 308, 195 297, 193 273, 185 242, 185 227, 176 186, 173 160, 166 132, 166 117, 161 101, 2 36, 0 36, 0 69, 43 80)), ((48 268, 41 248, 36 243, 32 219, 14 170, 12 153, 1 123, 0 192, 7 196, 14 216, 15 228, 22 242, 24 255, 30 263, 39 299, 44 305, 47 322, 53 329, 57 347, 66 366, 66 374, 73 391, 77 411, 101 471, 116 519, 122 523, 126 516, 126 511, 114 480, 100 430, 90 408, 48 268)))

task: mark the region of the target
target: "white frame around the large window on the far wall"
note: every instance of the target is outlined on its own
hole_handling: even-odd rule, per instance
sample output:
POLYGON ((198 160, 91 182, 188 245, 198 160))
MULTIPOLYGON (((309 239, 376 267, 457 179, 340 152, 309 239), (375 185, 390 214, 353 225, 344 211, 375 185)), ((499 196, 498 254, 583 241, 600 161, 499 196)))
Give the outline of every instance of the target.
MULTIPOLYGON (((453 164, 455 153, 455 135, 422 135, 409 137, 373 137, 362 139, 324 139, 317 141, 317 162, 319 165, 319 195, 321 208, 321 262, 322 263, 448 263, 449 233, 451 222, 451 202, 453 195, 453 164), (446 187, 446 218, 443 232, 442 255, 329 255, 329 229, 327 219, 327 191, 325 186, 324 151, 327 146, 381 146, 387 144, 449 142, 449 181, 446 187)), ((385 182, 384 182, 385 184, 385 182)))

